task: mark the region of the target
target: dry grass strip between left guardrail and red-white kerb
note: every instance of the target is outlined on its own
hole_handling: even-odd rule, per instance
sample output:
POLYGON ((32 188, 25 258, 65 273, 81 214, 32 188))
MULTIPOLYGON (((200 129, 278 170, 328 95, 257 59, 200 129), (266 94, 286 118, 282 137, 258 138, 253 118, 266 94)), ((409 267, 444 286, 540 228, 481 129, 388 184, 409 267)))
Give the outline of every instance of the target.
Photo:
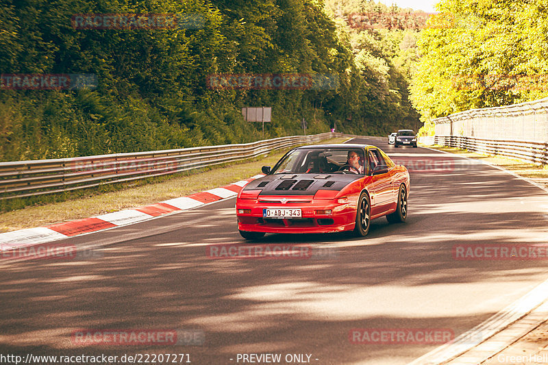
MULTIPOLYGON (((347 139, 331 138, 322 143, 340 143, 347 139)), ((218 188, 259 174, 261 166, 274 166, 286 151, 278 150, 251 162, 226 164, 190 174, 144 179, 133 184, 112 184, 49 197, 46 198, 49 200, 42 200, 32 206, 0 213, 0 233, 74 221, 218 188)))

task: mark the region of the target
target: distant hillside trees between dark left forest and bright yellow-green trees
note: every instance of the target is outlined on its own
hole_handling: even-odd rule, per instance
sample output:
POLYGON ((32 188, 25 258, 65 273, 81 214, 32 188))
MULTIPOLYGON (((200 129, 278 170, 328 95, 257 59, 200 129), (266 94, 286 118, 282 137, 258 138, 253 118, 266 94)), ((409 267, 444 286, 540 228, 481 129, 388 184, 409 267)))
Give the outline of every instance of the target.
POLYGON ((326 5, 338 19, 358 71, 349 90, 358 95, 346 105, 348 118, 364 121, 367 131, 377 135, 399 128, 419 129, 409 88, 418 58, 415 37, 425 23, 425 13, 371 0, 327 0, 326 5))

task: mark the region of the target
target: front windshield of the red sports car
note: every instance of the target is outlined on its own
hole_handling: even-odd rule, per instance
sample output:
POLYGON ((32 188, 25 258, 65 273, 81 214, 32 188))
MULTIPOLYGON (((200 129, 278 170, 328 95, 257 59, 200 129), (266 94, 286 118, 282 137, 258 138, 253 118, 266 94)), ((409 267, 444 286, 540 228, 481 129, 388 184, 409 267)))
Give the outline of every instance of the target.
POLYGON ((362 173, 362 166, 364 166, 362 149, 294 149, 274 166, 272 173, 348 173, 349 171, 362 173), (349 168, 349 162, 356 168, 349 168))

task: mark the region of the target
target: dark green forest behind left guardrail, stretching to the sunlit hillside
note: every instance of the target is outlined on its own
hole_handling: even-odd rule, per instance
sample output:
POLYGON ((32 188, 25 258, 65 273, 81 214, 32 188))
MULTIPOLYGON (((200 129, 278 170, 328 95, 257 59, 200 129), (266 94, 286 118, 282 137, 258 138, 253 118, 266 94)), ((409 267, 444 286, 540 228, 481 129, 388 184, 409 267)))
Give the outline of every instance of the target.
MULTIPOLYGON (((371 1, 339 1, 378 14, 371 1)), ((92 90, 0 90, 0 160, 249 142, 338 131, 386 134, 419 121, 408 101, 413 29, 352 28, 317 0, 2 0, 0 72, 91 73, 92 90), (75 29, 75 14, 198 14, 197 29, 75 29), (215 90, 217 73, 338 75, 328 90, 215 90)), ((363 11, 363 10, 361 10, 363 11)), ((379 15, 380 16, 380 15, 379 15)), ((190 27, 192 28, 192 27, 190 27)))

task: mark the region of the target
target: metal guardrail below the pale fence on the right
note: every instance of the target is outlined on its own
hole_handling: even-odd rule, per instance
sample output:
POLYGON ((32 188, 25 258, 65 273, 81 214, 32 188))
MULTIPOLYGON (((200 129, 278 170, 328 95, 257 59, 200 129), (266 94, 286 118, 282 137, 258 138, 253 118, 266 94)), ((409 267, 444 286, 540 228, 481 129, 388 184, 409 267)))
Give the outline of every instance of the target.
POLYGON ((486 140, 463 136, 436 136, 435 143, 443 146, 488 153, 490 155, 503 155, 518 160, 548 164, 548 142, 486 140))

